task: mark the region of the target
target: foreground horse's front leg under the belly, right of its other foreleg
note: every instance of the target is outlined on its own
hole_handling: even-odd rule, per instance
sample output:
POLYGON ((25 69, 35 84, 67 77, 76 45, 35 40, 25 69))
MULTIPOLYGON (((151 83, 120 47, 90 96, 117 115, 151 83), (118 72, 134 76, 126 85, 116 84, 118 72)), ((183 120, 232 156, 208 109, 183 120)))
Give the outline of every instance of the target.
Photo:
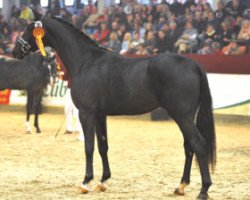
POLYGON ((104 192, 107 189, 105 182, 111 177, 109 161, 108 161, 108 138, 107 138, 107 123, 106 116, 98 116, 95 123, 98 149, 102 158, 103 175, 98 183, 97 192, 104 192))

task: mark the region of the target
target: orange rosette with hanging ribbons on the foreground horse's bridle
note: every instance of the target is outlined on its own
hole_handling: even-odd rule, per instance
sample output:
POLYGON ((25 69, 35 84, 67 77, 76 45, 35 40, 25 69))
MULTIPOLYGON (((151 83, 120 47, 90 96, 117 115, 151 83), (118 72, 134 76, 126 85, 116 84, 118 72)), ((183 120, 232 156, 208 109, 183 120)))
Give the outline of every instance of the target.
POLYGON ((41 54, 45 57, 46 51, 44 49, 43 40, 42 40, 42 38, 44 36, 44 29, 43 29, 43 24, 41 21, 35 22, 33 36, 36 38, 36 44, 37 44, 39 50, 41 51, 41 54))

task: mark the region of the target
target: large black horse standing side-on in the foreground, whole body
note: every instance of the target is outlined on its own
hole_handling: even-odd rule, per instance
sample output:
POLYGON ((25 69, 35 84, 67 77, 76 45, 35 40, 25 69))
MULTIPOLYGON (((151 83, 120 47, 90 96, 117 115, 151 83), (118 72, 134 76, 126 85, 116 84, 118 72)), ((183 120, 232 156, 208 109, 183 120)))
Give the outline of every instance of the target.
MULTIPOLYGON (((179 125, 184 137, 185 168, 180 187, 175 193, 184 194, 190 183, 193 154, 196 154, 202 177, 199 199, 207 199, 212 184, 209 163, 216 162, 215 129, 212 100, 204 70, 194 61, 173 54, 146 58, 124 58, 100 47, 71 24, 41 16, 44 44, 53 47, 62 59, 72 79, 72 97, 80 112, 85 136, 86 174, 81 192, 87 193, 93 179, 95 132, 103 163, 103 175, 97 191, 106 189, 110 178, 106 117, 108 115, 137 115, 158 107, 165 108, 179 125), (196 121, 196 123, 195 123, 196 121)), ((37 45, 31 23, 17 42, 13 55, 22 59, 37 45)))

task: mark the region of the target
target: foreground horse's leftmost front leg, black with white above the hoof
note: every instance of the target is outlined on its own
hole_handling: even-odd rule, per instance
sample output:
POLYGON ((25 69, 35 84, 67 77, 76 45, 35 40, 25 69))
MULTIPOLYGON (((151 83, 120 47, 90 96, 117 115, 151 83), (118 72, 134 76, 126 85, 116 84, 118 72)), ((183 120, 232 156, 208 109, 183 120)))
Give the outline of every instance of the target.
POLYGON ((80 110, 79 117, 84 132, 85 155, 86 155, 86 173, 80 190, 83 194, 86 194, 90 191, 89 183, 94 178, 93 153, 94 153, 94 140, 95 140, 95 132, 94 132, 95 115, 80 110))

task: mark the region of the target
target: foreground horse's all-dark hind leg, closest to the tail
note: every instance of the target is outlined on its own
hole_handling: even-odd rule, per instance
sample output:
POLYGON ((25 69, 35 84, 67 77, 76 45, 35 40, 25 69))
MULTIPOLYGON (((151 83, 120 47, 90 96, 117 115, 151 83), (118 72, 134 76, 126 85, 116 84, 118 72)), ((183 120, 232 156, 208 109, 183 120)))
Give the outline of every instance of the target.
POLYGON ((207 191, 212 184, 206 154, 206 142, 196 128, 192 118, 179 118, 176 122, 179 125, 185 140, 190 144, 191 149, 197 157, 202 178, 202 189, 198 199, 205 200, 208 198, 207 191))

